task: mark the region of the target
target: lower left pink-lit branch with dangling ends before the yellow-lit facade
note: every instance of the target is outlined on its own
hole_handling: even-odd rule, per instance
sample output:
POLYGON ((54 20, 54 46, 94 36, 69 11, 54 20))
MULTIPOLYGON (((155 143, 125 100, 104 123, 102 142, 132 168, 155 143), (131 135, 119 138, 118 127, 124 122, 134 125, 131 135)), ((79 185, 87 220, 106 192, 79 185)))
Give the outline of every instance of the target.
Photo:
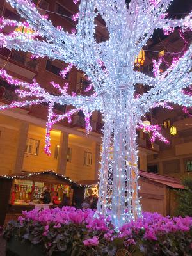
MULTIPOLYGON (((50 155, 51 154, 51 137, 50 132, 52 129, 52 125, 56 124, 57 122, 60 122, 64 118, 67 118, 68 122, 72 122, 72 115, 74 113, 77 113, 78 111, 83 111, 84 113, 84 120, 85 120, 85 129, 86 133, 89 133, 92 131, 92 127, 90 125, 90 116, 92 115, 92 111, 88 111, 86 107, 80 107, 76 109, 72 109, 68 111, 67 113, 64 113, 63 115, 58 115, 54 113, 54 104, 58 103, 57 99, 58 96, 51 95, 48 92, 46 92, 43 88, 40 87, 38 83, 36 83, 35 79, 33 80, 33 83, 27 83, 19 81, 18 79, 13 79, 12 76, 8 75, 5 70, 0 70, 0 76, 5 79, 8 84, 13 84, 15 86, 19 86, 20 88, 15 90, 15 92, 19 95, 20 98, 25 97, 37 97, 39 99, 31 99, 31 100, 24 100, 23 102, 12 102, 9 105, 0 105, 0 110, 4 109, 13 109, 18 107, 24 107, 26 105, 34 105, 34 104, 41 104, 42 102, 49 103, 49 109, 48 109, 48 120, 46 124, 46 135, 45 135, 45 153, 50 155)), ((65 83, 65 86, 62 88, 60 84, 56 84, 53 81, 51 82, 52 86, 54 88, 58 89, 58 91, 61 93, 63 97, 71 98, 76 97, 76 95, 68 95, 68 83, 65 83)))

